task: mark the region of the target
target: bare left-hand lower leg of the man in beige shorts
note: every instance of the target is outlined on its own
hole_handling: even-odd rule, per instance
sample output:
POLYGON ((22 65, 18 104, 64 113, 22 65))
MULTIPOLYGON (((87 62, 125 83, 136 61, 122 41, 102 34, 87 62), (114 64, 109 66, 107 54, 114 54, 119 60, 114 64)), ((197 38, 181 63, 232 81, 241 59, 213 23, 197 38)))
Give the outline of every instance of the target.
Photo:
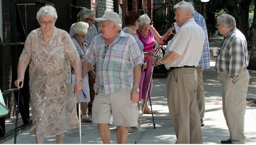
POLYGON ((109 124, 107 124, 107 123, 99 123, 98 124, 98 131, 99 131, 99 134, 100 134, 102 142, 104 144, 110 144, 109 124))

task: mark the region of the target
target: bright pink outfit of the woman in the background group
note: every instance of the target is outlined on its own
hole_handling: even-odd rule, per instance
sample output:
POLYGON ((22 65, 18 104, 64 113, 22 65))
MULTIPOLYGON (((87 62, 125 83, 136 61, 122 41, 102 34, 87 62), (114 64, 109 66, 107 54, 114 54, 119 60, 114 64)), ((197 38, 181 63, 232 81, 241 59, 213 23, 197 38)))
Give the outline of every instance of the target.
MULTIPOLYGON (((149 29, 149 32, 147 34, 147 38, 143 37, 142 34, 140 34, 139 29, 136 30, 137 34, 139 35, 139 39, 140 41, 142 41, 142 44, 144 45, 144 52, 150 52, 154 50, 154 45, 156 43, 155 38, 152 34, 152 32, 149 29)), ((142 71, 142 77, 140 78, 140 92, 139 92, 139 100, 142 99, 146 99, 146 94, 147 94, 147 83, 149 83, 149 79, 150 79, 150 75, 151 75, 151 71, 152 71, 152 64, 150 62, 151 57, 145 57, 145 61, 147 63, 147 68, 145 69, 145 71, 142 71), (145 76, 145 72, 147 74, 147 77, 145 76), (146 79, 147 78, 147 79, 146 79)), ((150 87, 149 87, 149 92, 151 94, 152 91, 152 84, 153 81, 151 81, 150 83, 150 87)), ((147 96, 147 99, 149 99, 149 97, 147 96)))

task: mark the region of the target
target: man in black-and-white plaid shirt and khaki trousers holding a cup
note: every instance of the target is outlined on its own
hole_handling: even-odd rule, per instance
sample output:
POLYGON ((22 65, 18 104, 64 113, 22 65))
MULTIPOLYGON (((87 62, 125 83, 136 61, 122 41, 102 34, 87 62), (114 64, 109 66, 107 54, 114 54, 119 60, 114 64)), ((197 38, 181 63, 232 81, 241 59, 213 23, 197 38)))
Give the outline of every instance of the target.
POLYGON ((246 110, 246 96, 250 75, 247 70, 249 64, 247 41, 239 29, 235 18, 229 14, 218 17, 216 28, 224 35, 216 59, 216 71, 219 83, 222 84, 222 107, 229 129, 228 140, 221 140, 222 144, 245 143, 244 115, 246 110))

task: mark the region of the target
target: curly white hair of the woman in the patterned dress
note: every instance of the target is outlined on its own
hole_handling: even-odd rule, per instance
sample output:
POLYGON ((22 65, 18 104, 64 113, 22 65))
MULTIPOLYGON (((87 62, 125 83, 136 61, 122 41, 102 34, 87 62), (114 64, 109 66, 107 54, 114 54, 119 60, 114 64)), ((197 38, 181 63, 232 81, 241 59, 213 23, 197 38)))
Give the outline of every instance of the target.
POLYGON ((41 16, 45 16, 45 17, 52 16, 52 17, 54 17, 55 19, 58 18, 56 9, 55 9, 53 6, 51 6, 51 5, 42 6, 42 7, 38 10, 38 12, 37 12, 37 20, 40 19, 41 16))

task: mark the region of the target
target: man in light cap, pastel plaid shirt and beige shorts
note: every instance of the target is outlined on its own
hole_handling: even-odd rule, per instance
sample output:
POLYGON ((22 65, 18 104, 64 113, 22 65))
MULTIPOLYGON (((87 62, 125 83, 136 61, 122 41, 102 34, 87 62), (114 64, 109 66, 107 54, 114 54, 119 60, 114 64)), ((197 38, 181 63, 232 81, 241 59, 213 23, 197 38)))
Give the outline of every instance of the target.
POLYGON ((91 64, 97 65, 93 123, 103 143, 110 143, 108 124, 117 126, 117 143, 126 143, 128 127, 137 126, 142 53, 132 35, 124 33, 116 12, 106 10, 100 21, 102 34, 91 42, 83 64, 84 78, 91 64), (113 119, 112 116, 113 115, 113 119))

